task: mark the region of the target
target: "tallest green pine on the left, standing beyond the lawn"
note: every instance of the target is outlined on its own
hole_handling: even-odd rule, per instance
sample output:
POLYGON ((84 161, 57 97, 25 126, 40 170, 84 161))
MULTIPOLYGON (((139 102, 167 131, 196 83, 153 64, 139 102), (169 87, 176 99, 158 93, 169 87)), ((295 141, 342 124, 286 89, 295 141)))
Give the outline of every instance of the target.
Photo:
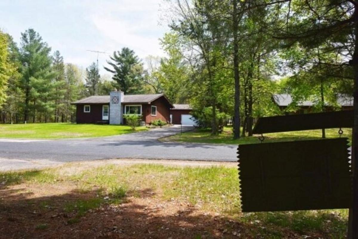
MULTIPOLYGON (((51 48, 31 28, 21 33, 20 46, 21 87, 25 95, 24 121, 29 121, 31 108, 33 109, 33 119, 35 119, 36 103, 38 102, 37 96, 40 96, 39 94, 44 90, 42 86, 50 87, 48 82, 53 78, 51 68, 52 58, 50 57, 51 48), (40 87, 41 89, 34 89, 32 87, 40 87), (30 106, 31 102, 33 107, 30 106)), ((48 92, 47 90, 45 91, 48 92)))

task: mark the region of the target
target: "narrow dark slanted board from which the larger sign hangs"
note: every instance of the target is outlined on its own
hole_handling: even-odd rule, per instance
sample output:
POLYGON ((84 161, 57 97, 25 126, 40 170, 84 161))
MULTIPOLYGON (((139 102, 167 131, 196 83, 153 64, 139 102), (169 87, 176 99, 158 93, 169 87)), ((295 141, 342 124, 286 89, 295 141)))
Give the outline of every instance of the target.
POLYGON ((309 129, 352 128, 353 110, 323 113, 261 117, 254 134, 289 132, 309 129))

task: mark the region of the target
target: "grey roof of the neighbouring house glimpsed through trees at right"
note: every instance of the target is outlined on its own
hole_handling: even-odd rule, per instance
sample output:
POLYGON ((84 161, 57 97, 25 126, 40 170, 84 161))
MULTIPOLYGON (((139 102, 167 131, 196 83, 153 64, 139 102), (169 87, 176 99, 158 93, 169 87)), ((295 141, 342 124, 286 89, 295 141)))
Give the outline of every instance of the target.
MULTIPOLYGON (((292 103, 292 97, 289 94, 274 94, 272 95, 275 103, 278 106, 288 106, 292 103)), ((337 104, 340 106, 353 106, 353 97, 348 95, 338 95, 337 104)), ((297 105, 299 106, 312 106, 314 102, 305 100, 299 102, 297 105)))

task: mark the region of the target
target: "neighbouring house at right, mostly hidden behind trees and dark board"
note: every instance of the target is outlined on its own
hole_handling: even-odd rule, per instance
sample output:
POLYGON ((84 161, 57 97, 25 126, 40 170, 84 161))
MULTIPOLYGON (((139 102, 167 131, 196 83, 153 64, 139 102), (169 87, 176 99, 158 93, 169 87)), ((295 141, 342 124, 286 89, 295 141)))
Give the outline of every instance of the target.
MULTIPOLYGON (((281 110, 285 110, 291 103, 292 97, 289 94, 274 94, 272 95, 272 100, 281 110)), ((292 113, 305 114, 313 110, 314 102, 309 100, 301 101, 297 104, 299 110, 292 113)), ((337 105, 341 107, 341 110, 353 110, 353 97, 348 95, 338 95, 337 96, 337 105)), ((326 111, 332 111, 333 105, 326 105, 326 111)), ((289 114, 286 112, 286 114, 289 114)))

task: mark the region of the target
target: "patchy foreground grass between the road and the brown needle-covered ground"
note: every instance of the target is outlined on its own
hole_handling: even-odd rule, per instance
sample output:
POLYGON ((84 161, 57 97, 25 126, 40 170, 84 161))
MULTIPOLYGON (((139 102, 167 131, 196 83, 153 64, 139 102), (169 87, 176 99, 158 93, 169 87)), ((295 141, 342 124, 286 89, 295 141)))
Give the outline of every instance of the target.
MULTIPOLYGON (((63 209, 64 212, 74 215, 67 221, 68 225, 83 223, 83 220, 86 220, 83 216, 89 213, 89 210, 96 210, 101 205, 116 207, 126 197, 131 197, 127 201, 129 204, 131 200, 141 198, 148 199, 151 203, 159 200, 163 204, 168 202, 170 205, 191 205, 212 215, 218 213, 222 218, 237 221, 243 228, 250 230, 252 235, 260 234, 263 238, 283 238, 292 235, 290 233, 318 233, 324 235, 324 238, 344 238, 347 230, 348 210, 242 213, 236 167, 135 164, 66 171, 66 167, 71 167, 71 164, 68 165, 42 171, 10 172, 6 177, 13 179, 12 183, 26 183, 29 188, 32 183, 38 185, 41 182, 39 178, 45 178, 44 182, 54 185, 72 183, 74 191, 81 196, 76 195, 67 202, 61 201, 61 206, 49 200, 29 205, 38 206, 47 212, 52 208, 63 209), (81 191, 81 188, 84 189, 81 191), (287 231, 290 233, 287 234, 287 231)), ((227 230, 231 233, 232 228, 228 227, 227 230)), ((195 237, 200 238, 200 235, 195 237)))

